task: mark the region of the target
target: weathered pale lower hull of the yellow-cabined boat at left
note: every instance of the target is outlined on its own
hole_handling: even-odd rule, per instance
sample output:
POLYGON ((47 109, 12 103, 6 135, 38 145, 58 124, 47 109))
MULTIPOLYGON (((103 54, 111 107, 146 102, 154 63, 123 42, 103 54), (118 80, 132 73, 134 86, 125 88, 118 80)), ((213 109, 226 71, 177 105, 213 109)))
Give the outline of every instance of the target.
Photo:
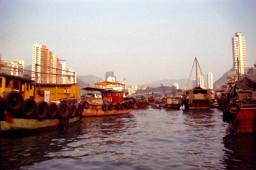
MULTIPOLYGON (((68 124, 79 121, 79 118, 80 116, 69 118, 68 124)), ((0 121, 1 132, 11 130, 41 130, 61 126, 67 126, 67 124, 61 125, 59 119, 44 119, 39 121, 38 119, 13 118, 10 114, 7 121, 0 121)))

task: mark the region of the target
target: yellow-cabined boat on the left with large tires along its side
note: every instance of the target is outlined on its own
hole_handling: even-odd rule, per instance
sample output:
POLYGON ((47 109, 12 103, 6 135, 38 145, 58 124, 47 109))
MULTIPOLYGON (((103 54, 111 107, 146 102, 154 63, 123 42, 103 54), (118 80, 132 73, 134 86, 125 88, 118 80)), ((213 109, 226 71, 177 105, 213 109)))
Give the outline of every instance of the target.
MULTIPOLYGON (((78 100, 73 101, 72 104, 55 100, 47 102, 46 98, 55 98, 56 94, 45 93, 42 89, 48 89, 49 92, 51 90, 46 85, 42 86, 26 78, 0 74, 1 132, 67 127, 68 124, 79 120, 83 103, 78 100), (40 98, 36 97, 37 95, 40 95, 40 98)), ((65 95, 65 97, 69 96, 65 95)))

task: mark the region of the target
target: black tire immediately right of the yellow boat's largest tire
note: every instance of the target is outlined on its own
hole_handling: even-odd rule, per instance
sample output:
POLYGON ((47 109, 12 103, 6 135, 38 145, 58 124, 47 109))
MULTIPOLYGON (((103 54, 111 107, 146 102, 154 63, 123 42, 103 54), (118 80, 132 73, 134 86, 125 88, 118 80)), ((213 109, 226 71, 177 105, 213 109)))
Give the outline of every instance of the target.
POLYGON ((23 103, 22 113, 26 117, 33 117, 37 112, 37 104, 35 100, 26 98, 23 103))

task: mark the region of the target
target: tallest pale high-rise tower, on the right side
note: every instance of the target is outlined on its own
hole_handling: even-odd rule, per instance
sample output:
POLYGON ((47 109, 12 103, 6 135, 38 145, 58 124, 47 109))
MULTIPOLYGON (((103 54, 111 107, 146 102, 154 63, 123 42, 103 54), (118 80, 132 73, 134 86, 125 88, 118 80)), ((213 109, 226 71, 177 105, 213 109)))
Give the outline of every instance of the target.
POLYGON ((239 72, 239 77, 246 74, 246 50, 245 38, 241 36, 241 32, 236 32, 236 36, 232 38, 233 48, 233 69, 236 70, 236 75, 239 72), (238 65, 239 63, 239 65, 238 65))

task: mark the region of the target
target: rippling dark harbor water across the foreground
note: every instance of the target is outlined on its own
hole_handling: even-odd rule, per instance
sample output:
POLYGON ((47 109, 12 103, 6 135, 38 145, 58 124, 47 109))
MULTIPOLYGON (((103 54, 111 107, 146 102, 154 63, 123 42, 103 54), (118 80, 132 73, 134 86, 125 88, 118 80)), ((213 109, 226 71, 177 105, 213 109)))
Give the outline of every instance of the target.
POLYGON ((222 110, 139 109, 67 129, 1 134, 1 170, 256 170, 256 136, 222 110))

